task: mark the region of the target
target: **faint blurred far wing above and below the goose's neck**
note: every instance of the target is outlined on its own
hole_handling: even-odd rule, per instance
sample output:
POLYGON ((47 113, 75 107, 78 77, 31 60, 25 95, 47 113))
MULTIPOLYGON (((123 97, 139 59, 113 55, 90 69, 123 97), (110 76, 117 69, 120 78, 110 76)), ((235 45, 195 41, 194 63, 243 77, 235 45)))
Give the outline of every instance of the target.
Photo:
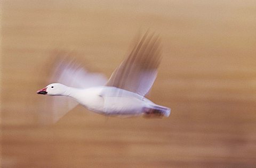
MULTIPOLYGON (((107 78, 101 73, 89 72, 79 66, 74 60, 70 61, 67 59, 62 59, 58 63, 55 63, 50 74, 51 79, 49 83, 62 83, 66 86, 76 88, 103 86, 107 81, 107 78)), ((51 107, 51 118, 54 123, 78 105, 74 99, 66 96, 45 97, 47 100, 47 109, 50 110, 49 107, 51 107)))

